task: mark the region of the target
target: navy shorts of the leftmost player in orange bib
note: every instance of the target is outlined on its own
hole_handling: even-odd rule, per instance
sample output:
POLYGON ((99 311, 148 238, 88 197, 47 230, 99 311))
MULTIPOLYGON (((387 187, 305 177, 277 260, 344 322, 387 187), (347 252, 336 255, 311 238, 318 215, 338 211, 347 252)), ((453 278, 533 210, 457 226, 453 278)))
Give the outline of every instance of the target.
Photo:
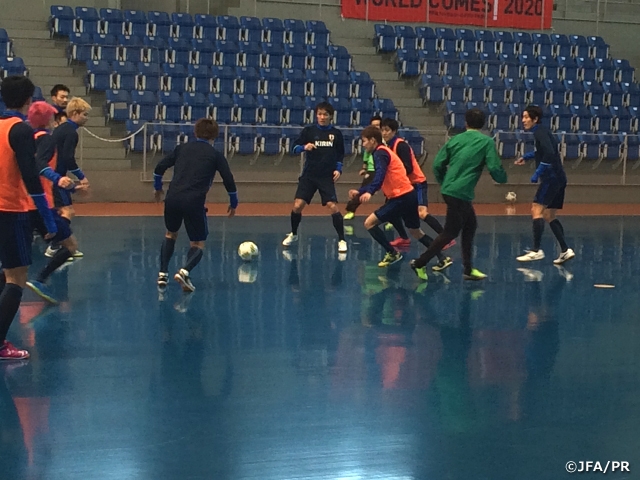
POLYGON ((2 264, 2 268, 31 265, 32 232, 29 213, 0 212, 0 264, 2 264))

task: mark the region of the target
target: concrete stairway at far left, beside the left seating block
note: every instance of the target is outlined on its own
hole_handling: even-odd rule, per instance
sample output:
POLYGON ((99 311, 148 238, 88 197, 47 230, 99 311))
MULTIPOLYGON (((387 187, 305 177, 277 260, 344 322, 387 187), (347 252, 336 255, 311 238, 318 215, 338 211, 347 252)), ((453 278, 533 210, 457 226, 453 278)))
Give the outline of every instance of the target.
MULTIPOLYGON (((3 18, 0 26, 7 30, 13 40, 16 56, 22 57, 29 68, 29 78, 42 89, 45 98, 51 88, 62 83, 71 90, 71 96, 85 98, 93 107, 86 128, 101 138, 112 138, 112 129, 105 126, 102 109, 104 93, 92 92, 87 95, 84 87, 84 66, 69 66, 66 58, 67 42, 49 38, 47 22, 44 20, 14 20, 3 18)), ((121 132, 114 132, 118 135, 121 132)), ((131 168, 131 161, 125 158, 121 143, 98 140, 80 131, 80 143, 76 158, 85 170, 123 170, 131 168)))

